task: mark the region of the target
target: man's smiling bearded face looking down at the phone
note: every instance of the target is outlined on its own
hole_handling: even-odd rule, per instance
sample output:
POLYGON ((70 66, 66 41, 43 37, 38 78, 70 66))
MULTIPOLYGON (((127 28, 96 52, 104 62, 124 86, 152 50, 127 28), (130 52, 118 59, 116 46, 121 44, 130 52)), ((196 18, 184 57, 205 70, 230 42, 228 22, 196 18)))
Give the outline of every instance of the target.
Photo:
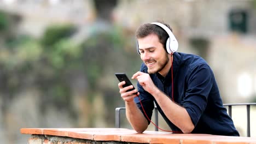
POLYGON ((148 67, 148 73, 161 73, 168 63, 169 58, 158 36, 150 34, 147 37, 140 38, 138 39, 138 45, 141 59, 148 67))

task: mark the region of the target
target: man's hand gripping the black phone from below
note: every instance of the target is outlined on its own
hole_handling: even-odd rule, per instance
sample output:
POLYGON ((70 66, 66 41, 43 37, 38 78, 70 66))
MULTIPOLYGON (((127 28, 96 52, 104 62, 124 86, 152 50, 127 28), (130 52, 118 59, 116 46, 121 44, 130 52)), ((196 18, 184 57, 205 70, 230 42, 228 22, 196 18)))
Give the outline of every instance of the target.
POLYGON ((133 88, 133 86, 131 85, 131 86, 123 87, 124 84, 125 84, 125 81, 118 83, 118 87, 120 89, 119 93, 121 94, 121 97, 124 99, 124 101, 131 102, 135 97, 137 97, 137 95, 139 95, 139 93, 137 92, 137 89, 133 89, 132 91, 127 91, 133 88), (133 94, 133 93, 137 93, 137 94, 133 94))

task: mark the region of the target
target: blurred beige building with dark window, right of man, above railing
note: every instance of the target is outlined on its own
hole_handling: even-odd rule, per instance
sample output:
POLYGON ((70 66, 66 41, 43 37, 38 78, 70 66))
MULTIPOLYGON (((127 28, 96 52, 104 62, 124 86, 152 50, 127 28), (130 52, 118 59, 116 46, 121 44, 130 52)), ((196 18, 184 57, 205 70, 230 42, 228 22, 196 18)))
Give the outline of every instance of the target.
POLYGON ((178 51, 210 63, 225 103, 255 98, 255 1, 120 1, 114 17, 131 29, 155 20, 170 23, 178 51))

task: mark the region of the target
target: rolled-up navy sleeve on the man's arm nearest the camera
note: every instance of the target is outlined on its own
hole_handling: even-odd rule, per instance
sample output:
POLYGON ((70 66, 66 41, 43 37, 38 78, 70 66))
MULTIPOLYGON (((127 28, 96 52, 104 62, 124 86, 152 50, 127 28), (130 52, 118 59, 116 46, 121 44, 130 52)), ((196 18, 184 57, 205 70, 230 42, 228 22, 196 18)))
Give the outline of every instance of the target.
POLYGON ((188 88, 182 105, 189 113, 193 124, 196 125, 207 105, 207 98, 214 81, 213 73, 206 64, 197 65, 188 72, 188 88))

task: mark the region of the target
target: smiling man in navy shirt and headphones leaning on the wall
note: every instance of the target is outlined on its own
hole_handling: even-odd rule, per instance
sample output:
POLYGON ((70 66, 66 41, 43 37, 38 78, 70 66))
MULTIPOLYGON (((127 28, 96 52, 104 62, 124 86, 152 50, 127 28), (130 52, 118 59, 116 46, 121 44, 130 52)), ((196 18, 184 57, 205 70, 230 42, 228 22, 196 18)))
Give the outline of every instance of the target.
POLYGON ((146 23, 137 29, 136 38, 143 61, 132 76, 138 91, 128 92, 133 86, 123 87, 124 81, 118 84, 133 129, 143 133, 148 128, 155 102, 174 132, 239 136, 213 71, 201 57, 176 52, 178 43, 170 26, 146 23))

